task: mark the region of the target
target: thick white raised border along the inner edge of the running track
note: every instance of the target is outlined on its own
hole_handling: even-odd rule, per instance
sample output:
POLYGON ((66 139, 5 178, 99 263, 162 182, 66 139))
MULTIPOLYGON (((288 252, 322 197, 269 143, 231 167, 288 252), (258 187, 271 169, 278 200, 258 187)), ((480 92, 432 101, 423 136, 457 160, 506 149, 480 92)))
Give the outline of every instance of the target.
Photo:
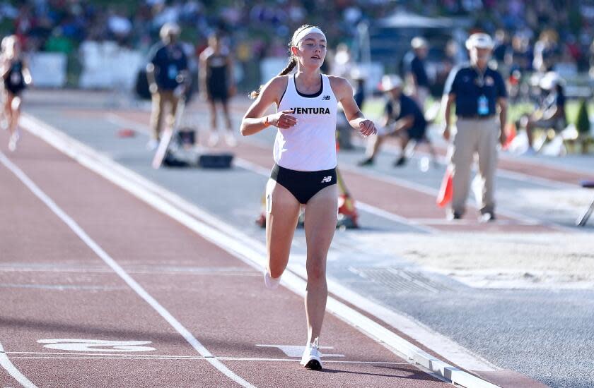
MULTIPOLYGON (((156 193, 156 190, 153 189, 158 186, 156 186, 154 183, 148 182, 146 178, 143 178, 124 166, 113 162, 111 159, 98 154, 98 152, 92 150, 91 147, 82 145, 80 142, 70 138, 65 133, 62 133, 51 126, 42 123, 37 119, 33 119, 28 115, 23 115, 21 116, 21 126, 23 126, 23 128, 25 128, 30 133, 37 135, 39 138, 42 138, 42 140, 45 140, 45 142, 57 148, 57 150, 69 155, 78 163, 86 166, 88 169, 91 169, 91 171, 95 171, 100 176, 103 176, 108 181, 111 181, 117 186, 120 186, 120 188, 132 193, 132 195, 135 195, 136 198, 143 200, 156 210, 167 214, 169 217, 175 219, 177 222, 180 222, 180 224, 187 226, 187 228, 196 232, 200 236, 215 243, 216 245, 219 245, 219 247, 221 247, 223 250, 226 250, 228 253, 238 257, 238 259, 242 260, 248 265, 259 270, 264 268, 265 255, 262 255, 260 250, 255 249, 260 248, 260 245, 252 239, 247 238, 247 236, 246 238, 241 238, 238 236, 238 234, 229 234, 228 232, 226 233, 225 230, 233 230, 230 226, 224 226, 223 228, 219 229, 205 224, 196 218, 197 212, 206 214, 207 219, 210 222, 215 222, 214 225, 217 223, 220 225, 221 222, 202 210, 199 210, 195 206, 192 206, 192 210, 194 210, 190 213, 192 215, 188 214, 184 211, 184 208, 190 206, 187 201, 182 200, 182 205, 180 206, 177 204, 177 202, 170 200, 170 198, 175 198, 177 196, 159 195, 158 193, 169 192, 163 188, 158 188, 158 193, 156 193), (233 238, 230 236, 233 236, 233 238), (245 239, 248 239, 250 243, 244 243, 245 239)), ((305 281, 297 274, 291 272, 291 270, 286 271, 283 274, 282 284, 286 286, 286 288, 297 293, 299 296, 305 295, 305 281)), ((482 380, 479 377, 471 375, 468 372, 460 370, 453 365, 449 365, 448 363, 431 356, 421 348, 379 325, 358 311, 349 308, 349 306, 345 305, 344 303, 337 301, 337 299, 333 298, 332 296, 328 297, 327 310, 339 317, 341 320, 344 320, 344 322, 347 322, 349 325, 359 329, 364 334, 367 334, 368 337, 379 341, 380 344, 390 348, 390 350, 397 353, 402 353, 409 360, 412 360, 412 363, 417 363, 423 368, 430 370, 437 377, 449 380, 456 384, 460 384, 467 388, 497 387, 495 384, 491 384, 486 380, 482 380)))

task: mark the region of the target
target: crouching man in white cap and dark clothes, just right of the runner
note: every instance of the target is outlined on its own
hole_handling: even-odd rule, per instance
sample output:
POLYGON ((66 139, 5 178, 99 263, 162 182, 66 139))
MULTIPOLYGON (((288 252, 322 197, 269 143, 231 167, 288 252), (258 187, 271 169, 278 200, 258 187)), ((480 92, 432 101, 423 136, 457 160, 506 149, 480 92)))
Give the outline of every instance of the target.
POLYGON ((373 164, 381 143, 389 135, 400 138, 402 153, 394 165, 402 166, 406 163, 404 149, 409 140, 419 141, 425 136, 427 121, 423 111, 414 99, 402 94, 402 79, 395 74, 386 74, 382 77, 381 86, 387 95, 382 123, 378 135, 371 137, 367 143, 366 158, 359 162, 359 166, 373 164))

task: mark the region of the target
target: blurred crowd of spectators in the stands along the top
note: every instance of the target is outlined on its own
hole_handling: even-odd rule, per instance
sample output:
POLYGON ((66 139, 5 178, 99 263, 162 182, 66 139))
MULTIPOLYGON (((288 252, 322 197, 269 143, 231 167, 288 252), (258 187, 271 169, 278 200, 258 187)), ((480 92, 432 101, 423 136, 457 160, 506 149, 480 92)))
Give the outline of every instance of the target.
POLYGON ((247 63, 285 56, 289 35, 303 23, 322 26, 332 48, 351 44, 360 21, 373 24, 396 11, 470 18, 473 31, 496 37, 496 59, 511 68, 594 67, 594 2, 578 0, 5 1, 0 28, 4 35, 15 33, 25 51, 71 54, 84 40, 113 40, 148 52, 161 25, 175 21, 182 27, 181 40, 192 42, 197 54, 218 31, 227 35, 235 57, 247 63))

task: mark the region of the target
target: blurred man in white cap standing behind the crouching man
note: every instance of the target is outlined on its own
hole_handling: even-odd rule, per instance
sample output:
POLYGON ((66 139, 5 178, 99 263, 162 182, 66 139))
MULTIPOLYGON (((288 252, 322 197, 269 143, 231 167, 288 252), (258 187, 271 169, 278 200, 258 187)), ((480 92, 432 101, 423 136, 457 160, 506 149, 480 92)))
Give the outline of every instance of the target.
POLYGON ((411 88, 410 95, 417 100, 421 109, 424 109, 425 100, 429 97, 429 77, 425 68, 429 46, 424 37, 414 37, 410 46, 414 55, 405 59, 406 79, 411 88))

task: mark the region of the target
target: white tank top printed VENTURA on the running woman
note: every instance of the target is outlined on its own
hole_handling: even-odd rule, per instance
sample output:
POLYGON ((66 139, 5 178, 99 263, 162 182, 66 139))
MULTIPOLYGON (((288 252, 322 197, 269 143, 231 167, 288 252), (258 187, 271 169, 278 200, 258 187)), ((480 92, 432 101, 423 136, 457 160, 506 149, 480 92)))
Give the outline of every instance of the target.
POLYGON ((289 75, 278 111, 291 109, 297 125, 282 129, 274 140, 274 162, 285 169, 320 171, 334 169, 336 158, 337 99, 330 80, 322 74, 322 90, 302 95, 289 75))

